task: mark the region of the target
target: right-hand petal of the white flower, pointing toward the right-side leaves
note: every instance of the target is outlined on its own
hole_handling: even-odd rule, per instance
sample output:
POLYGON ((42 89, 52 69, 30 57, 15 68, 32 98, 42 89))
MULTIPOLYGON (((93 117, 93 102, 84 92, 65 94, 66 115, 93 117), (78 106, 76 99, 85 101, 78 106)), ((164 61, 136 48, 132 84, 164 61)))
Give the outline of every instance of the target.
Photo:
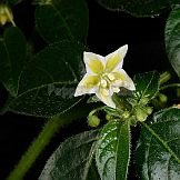
POLYGON ((128 76, 128 73, 123 69, 121 69, 119 72, 114 72, 114 74, 117 80, 122 81, 122 83, 120 83, 117 87, 124 87, 131 91, 136 90, 132 79, 128 76))

